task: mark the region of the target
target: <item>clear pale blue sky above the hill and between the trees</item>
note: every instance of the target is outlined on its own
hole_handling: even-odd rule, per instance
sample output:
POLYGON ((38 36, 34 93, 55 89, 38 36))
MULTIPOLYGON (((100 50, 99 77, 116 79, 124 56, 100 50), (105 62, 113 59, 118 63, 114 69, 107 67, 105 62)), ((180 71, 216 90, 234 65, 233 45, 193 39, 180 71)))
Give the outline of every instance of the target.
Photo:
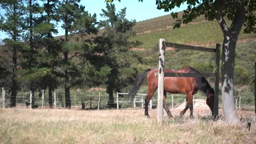
MULTIPOLYGON (((144 0, 143 2, 138 2, 138 0, 121 0, 121 2, 114 1, 113 3, 117 11, 126 7, 126 18, 128 20, 136 20, 137 22, 171 14, 171 11, 164 12, 164 10, 156 9, 155 0, 144 0)), ((96 13, 97 21, 103 19, 100 14, 102 13, 101 9, 106 9, 104 0, 82 0, 80 4, 84 5, 85 10, 90 14, 96 13)), ((173 11, 178 12, 185 8, 187 7, 183 5, 181 8, 173 9, 173 11)), ((63 30, 59 26, 59 33, 57 35, 63 34, 63 30)), ((7 37, 7 35, 0 31, 0 39, 7 37)))

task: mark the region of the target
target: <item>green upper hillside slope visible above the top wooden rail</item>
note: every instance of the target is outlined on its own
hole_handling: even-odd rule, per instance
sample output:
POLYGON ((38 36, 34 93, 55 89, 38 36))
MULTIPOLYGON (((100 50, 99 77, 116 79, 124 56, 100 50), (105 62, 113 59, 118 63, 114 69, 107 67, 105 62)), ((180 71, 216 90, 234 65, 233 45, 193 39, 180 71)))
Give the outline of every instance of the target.
MULTIPOLYGON (((131 40, 141 41, 143 45, 139 47, 146 49, 154 47, 160 38, 172 43, 190 45, 215 45, 223 41, 222 31, 216 21, 205 21, 201 16, 188 25, 172 29, 174 21, 171 15, 166 15, 138 22, 134 27, 137 34, 131 40)), ((231 22, 226 21, 230 25, 231 22)), ((247 39, 255 41, 256 34, 245 34, 243 29, 238 42, 241 43, 247 39)))

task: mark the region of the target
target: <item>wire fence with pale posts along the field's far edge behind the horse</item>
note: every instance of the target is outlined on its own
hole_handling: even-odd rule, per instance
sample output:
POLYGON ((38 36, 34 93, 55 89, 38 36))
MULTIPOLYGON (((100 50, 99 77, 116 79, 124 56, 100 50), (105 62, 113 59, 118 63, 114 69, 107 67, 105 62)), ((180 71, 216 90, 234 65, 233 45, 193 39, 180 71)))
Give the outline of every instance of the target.
MULTIPOLYGON (((71 109, 86 109, 86 110, 96 110, 96 109, 144 109, 144 100, 147 94, 137 94, 134 99, 129 99, 126 97, 127 93, 117 93, 114 95, 112 100, 109 100, 109 96, 104 93, 98 93, 94 95, 86 94, 71 94, 70 99, 65 98, 65 93, 62 92, 53 92, 53 98, 49 98, 48 92, 19 92, 16 96, 16 106, 19 107, 32 107, 45 109, 49 108, 52 104, 53 108, 62 109, 66 107, 66 100, 71 101, 71 109), (32 102, 33 101, 33 102, 32 102), (33 105, 32 105, 33 103, 33 105)), ((167 94, 166 96, 166 105, 170 109, 176 109, 178 106, 186 102, 185 94, 167 94)), ((9 107, 10 106, 10 94, 5 93, 5 90, 2 89, 2 97, 0 98, 0 107, 9 107), (4 95, 4 97, 3 97, 4 95)), ((206 97, 195 96, 193 97, 194 104, 198 99, 205 100, 206 97)), ((149 108, 154 109, 157 107, 157 96, 152 97, 150 100, 149 108)), ((220 108, 222 107, 222 98, 219 97, 220 108)), ((242 110, 254 110, 254 97, 248 96, 236 96, 235 104, 236 109, 242 110)), ((201 108, 208 108, 207 106, 197 106, 201 108)))

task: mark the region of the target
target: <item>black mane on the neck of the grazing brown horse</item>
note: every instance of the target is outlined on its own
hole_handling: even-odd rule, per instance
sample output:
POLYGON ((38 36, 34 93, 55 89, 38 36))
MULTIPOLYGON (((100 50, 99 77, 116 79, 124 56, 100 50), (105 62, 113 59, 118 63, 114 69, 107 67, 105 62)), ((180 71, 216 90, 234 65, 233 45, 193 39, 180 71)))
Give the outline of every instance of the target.
MULTIPOLYGON (((200 74, 199 71, 197 71, 196 69, 194 69, 192 67, 188 67, 188 73, 199 73, 200 74)), ((210 91, 212 91, 212 87, 210 86, 208 81, 205 79, 205 77, 196 77, 195 83, 196 83, 197 89, 202 91, 206 95, 209 95, 210 91)))

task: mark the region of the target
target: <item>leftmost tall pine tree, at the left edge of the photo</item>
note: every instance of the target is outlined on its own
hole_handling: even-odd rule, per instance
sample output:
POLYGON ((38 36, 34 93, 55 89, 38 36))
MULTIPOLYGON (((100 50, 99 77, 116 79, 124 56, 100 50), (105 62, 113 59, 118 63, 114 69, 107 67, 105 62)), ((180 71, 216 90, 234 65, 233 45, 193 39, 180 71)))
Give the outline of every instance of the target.
POLYGON ((22 56, 23 52, 27 50, 27 45, 21 41, 24 39, 24 25, 25 7, 24 2, 21 0, 2 0, 0 7, 4 10, 5 14, 0 16, 0 29, 9 35, 9 39, 4 39, 5 45, 3 46, 5 56, 8 57, 7 61, 11 61, 11 98, 10 107, 16 106, 16 95, 18 90, 18 80, 16 71, 20 69, 18 58, 22 56))

